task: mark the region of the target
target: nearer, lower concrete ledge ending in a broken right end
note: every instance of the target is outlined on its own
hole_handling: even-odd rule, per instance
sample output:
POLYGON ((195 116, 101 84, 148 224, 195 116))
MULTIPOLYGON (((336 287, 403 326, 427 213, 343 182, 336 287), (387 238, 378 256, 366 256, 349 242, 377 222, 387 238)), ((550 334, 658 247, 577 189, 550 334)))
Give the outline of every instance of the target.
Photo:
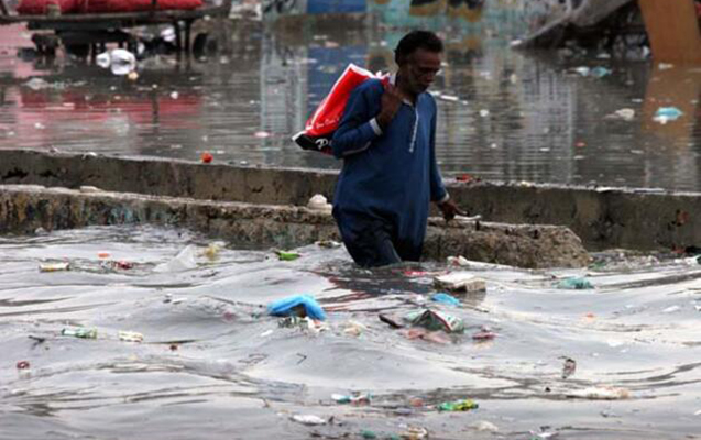
MULTIPOLYGON (((0 233, 124 223, 185 227, 259 249, 339 240, 330 213, 303 207, 0 186, 0 233)), ((533 268, 578 267, 589 262, 581 241, 567 228, 474 221, 446 224, 442 219, 431 219, 425 257, 449 255, 533 268)))

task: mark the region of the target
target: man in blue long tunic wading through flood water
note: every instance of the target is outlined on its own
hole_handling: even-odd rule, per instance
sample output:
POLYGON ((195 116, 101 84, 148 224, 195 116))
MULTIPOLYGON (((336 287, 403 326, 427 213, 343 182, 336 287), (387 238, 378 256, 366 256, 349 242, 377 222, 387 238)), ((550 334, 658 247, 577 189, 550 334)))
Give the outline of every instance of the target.
POLYGON ((430 201, 446 220, 462 213, 436 165, 436 101, 426 92, 442 51, 432 32, 405 35, 395 50, 398 72, 388 84, 358 86, 333 134, 333 155, 343 160, 333 217, 363 267, 418 261, 430 201))

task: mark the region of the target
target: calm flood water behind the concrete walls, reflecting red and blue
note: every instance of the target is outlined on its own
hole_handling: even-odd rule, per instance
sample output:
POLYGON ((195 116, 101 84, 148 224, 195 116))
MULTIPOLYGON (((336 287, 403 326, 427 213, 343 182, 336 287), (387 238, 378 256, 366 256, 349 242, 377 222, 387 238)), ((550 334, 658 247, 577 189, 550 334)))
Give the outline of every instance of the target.
MULTIPOLYGON (((461 25, 427 18, 409 24, 446 40, 434 88, 446 177, 701 190, 701 66, 517 52, 510 43, 518 21, 496 12, 461 25), (583 76, 581 67, 610 74, 583 76), (655 122, 660 107, 683 114, 655 122), (622 109, 633 118, 616 118, 622 109)), ((232 164, 332 169, 338 161, 303 152, 291 135, 349 63, 392 68, 405 30, 234 24, 220 51, 146 57, 136 80, 62 53, 54 62, 31 59, 18 54, 18 46, 32 47, 29 33, 0 32, 8 35, 0 40, 0 148, 193 161, 210 152, 232 164), (32 78, 47 84, 31 87, 32 78)))

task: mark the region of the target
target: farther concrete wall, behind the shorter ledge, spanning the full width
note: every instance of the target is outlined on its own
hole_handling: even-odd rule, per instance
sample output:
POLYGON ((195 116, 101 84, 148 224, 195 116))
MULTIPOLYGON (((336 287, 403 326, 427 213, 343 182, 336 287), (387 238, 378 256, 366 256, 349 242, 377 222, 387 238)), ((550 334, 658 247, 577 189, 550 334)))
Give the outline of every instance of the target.
MULTIPOLYGON (((335 172, 198 164, 161 158, 0 152, 0 185, 36 184, 250 204, 304 206, 331 198, 335 172)), ((569 227, 591 250, 701 245, 701 194, 447 183, 484 220, 569 227)))

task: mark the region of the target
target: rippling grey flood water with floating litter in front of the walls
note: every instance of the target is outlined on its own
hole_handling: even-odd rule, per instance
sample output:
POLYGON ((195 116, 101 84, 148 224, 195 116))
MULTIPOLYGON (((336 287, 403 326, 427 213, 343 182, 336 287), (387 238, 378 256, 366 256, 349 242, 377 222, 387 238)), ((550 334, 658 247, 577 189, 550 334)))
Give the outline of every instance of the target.
POLYGON ((452 307, 429 299, 447 264, 362 271, 314 244, 293 262, 234 244, 211 260, 209 244, 131 227, 0 238, 0 438, 701 437, 695 262, 607 253, 583 270, 470 268, 486 292, 452 307), (156 268, 188 244, 196 266, 156 268), (70 271, 39 271, 64 261, 70 271), (593 288, 558 288, 568 276, 593 288), (264 314, 298 294, 319 300, 326 330, 264 314), (464 333, 410 339, 379 320, 426 307, 461 318, 464 333), (97 339, 62 336, 78 327, 97 339), (485 329, 495 338, 473 339, 485 329), (332 399, 352 393, 370 404, 332 399), (436 409, 462 398, 479 408, 436 409))

